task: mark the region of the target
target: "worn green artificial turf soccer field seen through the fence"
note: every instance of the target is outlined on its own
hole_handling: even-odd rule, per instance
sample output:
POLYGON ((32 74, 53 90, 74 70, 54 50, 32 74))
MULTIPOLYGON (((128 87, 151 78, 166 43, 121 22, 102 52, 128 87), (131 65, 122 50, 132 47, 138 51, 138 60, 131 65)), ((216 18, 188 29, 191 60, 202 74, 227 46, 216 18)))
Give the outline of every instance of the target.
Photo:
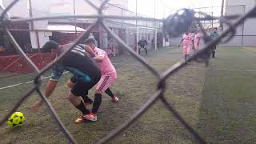
MULTIPOLYGON (((146 60, 163 72, 181 58, 181 50, 174 47, 150 51, 146 60)), ((173 104, 186 122, 189 122, 206 142, 249 143, 256 142, 256 49, 218 48, 217 58, 210 66, 192 62, 166 82, 165 97, 173 104)), ((75 124, 78 110, 66 99, 66 82, 70 74, 58 83, 50 97, 70 133, 78 143, 93 143, 126 122, 156 90, 157 80, 131 56, 113 59, 118 79, 112 89, 120 98, 113 103, 106 94, 97 122, 75 124)), ((21 94, 30 89, 32 74, 1 78, 0 87, 20 82, 26 84, 0 88, 0 118, 10 110, 21 94)), ((49 76, 49 75, 45 75, 49 76)), ((45 81, 46 82, 46 81, 45 81)), ((42 89, 45 83, 42 83, 42 89)), ((90 90, 90 97, 94 90, 90 90)), ((0 127, 0 143, 67 143, 51 119, 46 106, 38 113, 30 106, 38 99, 34 94, 18 109, 26 116, 26 123, 18 129, 0 127)), ((133 126, 119 134, 110 143, 196 143, 191 134, 161 103, 146 111, 133 126)))

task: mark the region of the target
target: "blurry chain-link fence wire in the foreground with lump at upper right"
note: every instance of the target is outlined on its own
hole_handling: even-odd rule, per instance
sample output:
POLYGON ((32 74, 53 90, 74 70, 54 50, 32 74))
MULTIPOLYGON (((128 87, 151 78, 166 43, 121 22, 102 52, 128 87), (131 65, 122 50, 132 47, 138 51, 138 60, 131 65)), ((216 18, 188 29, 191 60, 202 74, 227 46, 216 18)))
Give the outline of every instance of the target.
POLYGON ((76 16, 70 16, 70 15, 63 15, 63 16, 54 16, 54 17, 42 17, 42 18, 20 18, 20 19, 10 19, 6 17, 6 13, 8 10, 10 10, 15 3, 17 3, 19 0, 14 0, 13 2, 10 2, 10 5, 6 7, 5 10, 2 11, 2 14, 0 16, 0 26, 5 30, 6 34, 10 38, 11 42, 13 43, 15 49, 18 51, 18 53, 22 56, 22 58, 26 59, 26 62, 30 67, 34 70, 34 72, 37 74, 37 76, 34 78, 34 86, 27 92, 25 95, 22 96, 22 98, 17 102, 17 104, 14 106, 12 110, 10 110, 9 114, 6 114, 6 117, 3 118, 0 122, 0 126, 3 125, 4 122, 10 117, 11 114, 14 113, 14 111, 18 110, 18 107, 26 100, 26 98, 30 97, 30 95, 34 92, 37 92, 39 94, 39 97, 42 98, 44 102, 46 102, 46 106, 48 107, 50 114, 52 115, 52 118, 54 118, 55 122, 58 124, 59 129, 62 131, 62 133, 65 135, 65 137, 69 140, 70 143, 76 143, 73 136, 70 134, 68 130, 66 130, 66 127, 63 125, 62 121, 58 118, 58 115, 56 114, 54 108, 51 106, 50 102, 46 99, 45 95, 42 93, 41 90, 39 90, 39 84, 42 82, 41 76, 46 72, 46 70, 50 70, 52 66, 56 62, 59 62, 61 58, 65 54, 67 54, 74 46, 76 46, 79 42, 82 42, 84 39, 84 36, 90 32, 94 28, 94 26, 101 25, 103 28, 108 32, 122 47, 123 49, 127 50, 134 58, 136 58, 139 62, 142 63, 143 66, 146 67, 147 70, 149 70, 156 78, 158 78, 158 86, 157 91, 149 98, 149 100, 127 121, 124 122, 121 126, 118 126, 118 128, 110 131, 110 133, 106 134, 105 137, 99 139, 96 143, 104 143, 109 142, 111 139, 115 138, 118 134, 120 134, 123 130, 126 130, 132 123, 134 123, 146 110, 150 108, 150 106, 154 105, 154 102, 156 102, 158 99, 162 101, 162 103, 166 106, 166 109, 170 110, 171 114, 174 114, 174 117, 178 119, 179 122, 181 122, 182 126, 186 128, 192 134, 195 138, 195 140, 199 143, 206 143, 204 138, 200 136, 196 130, 192 126, 190 126, 184 118, 178 113, 176 109, 174 109, 174 106, 171 105, 170 102, 166 101, 166 98, 164 96, 164 92, 166 90, 166 79, 170 78, 173 74, 177 73, 179 70, 182 70, 183 67, 187 65, 187 62, 190 61, 196 61, 196 62, 206 62, 206 65, 208 64, 210 53, 211 53, 211 47, 219 44, 219 43, 225 43, 230 41, 230 39, 234 36, 236 32, 236 28, 241 25, 243 22, 246 21, 248 18, 254 18, 256 16, 256 7, 254 7, 252 10, 247 12, 244 15, 232 15, 232 16, 225 16, 225 17, 214 17, 209 14, 205 14, 202 12, 196 12, 194 10, 178 10, 176 14, 170 15, 170 17, 166 18, 165 20, 157 20, 155 18, 143 18, 143 17, 121 17, 118 15, 105 15, 102 13, 102 10, 104 6, 106 6, 106 3, 109 0, 105 0, 102 2, 101 6, 95 6, 92 2, 89 0, 85 0, 90 6, 92 6, 95 10, 98 11, 98 14, 94 15, 76 15, 76 16), (199 17, 196 15, 200 15, 199 17), (50 62, 49 65, 47 65, 42 70, 38 70, 38 67, 34 65, 33 62, 31 62, 30 58, 27 57, 27 55, 22 51, 21 47, 18 46, 18 43, 14 39, 13 35, 10 33, 10 30, 6 29, 6 26, 8 24, 12 23, 20 23, 20 22, 34 22, 39 20, 46 20, 46 19, 60 19, 60 18, 97 18, 97 21, 89 26, 88 30, 83 32, 81 35, 78 36, 78 38, 75 40, 75 42, 70 46, 68 50, 66 50, 64 53, 62 53, 54 62, 50 62), (200 29, 202 30, 202 34, 204 35, 203 40, 206 43, 206 46, 204 46, 201 50, 198 50, 195 52, 189 59, 186 61, 179 61, 174 64, 174 66, 171 66, 168 70, 163 72, 162 74, 159 74, 144 58, 142 58, 140 55, 134 52, 126 44, 126 42, 123 42, 121 38, 118 37, 117 34, 114 34, 112 30, 108 26, 106 26, 105 19, 126 19, 126 20, 146 20, 146 21, 159 21, 163 23, 163 32, 166 34, 166 37, 178 37, 179 35, 185 33, 187 30, 189 30, 192 22, 198 23, 198 26, 200 26, 200 29), (211 39, 208 34, 206 34, 206 30, 204 30, 202 26, 202 21, 205 20, 219 20, 222 23, 224 23, 229 28, 223 31, 223 33, 216 39, 211 39), (232 20, 232 22, 230 21, 232 20))

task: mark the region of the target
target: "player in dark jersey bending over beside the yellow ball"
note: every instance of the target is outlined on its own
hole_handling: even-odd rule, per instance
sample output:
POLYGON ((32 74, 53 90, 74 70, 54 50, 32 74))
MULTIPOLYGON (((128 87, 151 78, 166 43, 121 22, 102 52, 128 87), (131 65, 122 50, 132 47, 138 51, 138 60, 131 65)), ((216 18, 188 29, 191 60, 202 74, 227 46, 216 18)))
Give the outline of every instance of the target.
MULTIPOLYGON (((70 44, 59 46, 57 42, 49 41, 42 47, 43 52, 51 52, 56 54, 56 58, 65 51, 70 44)), ((98 83, 101 78, 101 71, 98 65, 92 58, 90 58, 85 51, 79 46, 74 46, 70 52, 68 52, 60 62, 54 65, 50 81, 46 85, 45 94, 46 97, 50 97, 55 87, 57 86, 58 79, 61 78, 64 70, 70 71, 78 78, 78 82, 70 90, 67 98, 70 100, 73 106, 82 112, 81 117, 79 117, 75 122, 81 123, 86 121, 84 116, 90 114, 90 110, 86 109, 82 100, 78 97, 86 96, 88 90, 90 90, 95 84, 98 83)), ((97 105, 97 100, 94 100, 94 105, 97 105)), ((35 111, 42 105, 42 99, 34 103, 32 107, 35 111)), ((99 104, 100 105, 100 104, 99 104)))

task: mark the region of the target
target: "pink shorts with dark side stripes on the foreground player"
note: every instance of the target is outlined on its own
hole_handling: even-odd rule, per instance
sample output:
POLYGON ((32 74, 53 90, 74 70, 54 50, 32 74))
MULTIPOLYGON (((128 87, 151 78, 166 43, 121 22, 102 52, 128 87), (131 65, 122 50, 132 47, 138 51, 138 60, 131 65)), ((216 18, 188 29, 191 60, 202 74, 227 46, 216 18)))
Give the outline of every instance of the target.
POLYGON ((101 91, 102 93, 106 91, 115 81, 115 78, 111 77, 110 75, 102 75, 101 79, 99 80, 96 90, 101 91))

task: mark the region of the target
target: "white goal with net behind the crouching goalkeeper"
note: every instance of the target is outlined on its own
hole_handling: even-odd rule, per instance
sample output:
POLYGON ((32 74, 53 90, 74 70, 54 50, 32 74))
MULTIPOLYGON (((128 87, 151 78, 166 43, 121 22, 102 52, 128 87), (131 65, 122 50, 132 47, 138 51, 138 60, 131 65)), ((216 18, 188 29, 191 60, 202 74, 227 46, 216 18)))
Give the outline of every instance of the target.
MULTIPOLYGON (((136 52, 138 53, 138 41, 141 38, 146 38, 148 44, 151 44, 151 48, 157 50, 158 42, 158 29, 144 26, 126 27, 126 42, 129 46, 137 46, 136 52), (144 30, 142 32, 142 30, 144 30), (134 42, 135 39, 135 42, 134 42), (152 43, 153 42, 153 43, 152 43)), ((149 45, 148 45, 149 46, 149 45)))

